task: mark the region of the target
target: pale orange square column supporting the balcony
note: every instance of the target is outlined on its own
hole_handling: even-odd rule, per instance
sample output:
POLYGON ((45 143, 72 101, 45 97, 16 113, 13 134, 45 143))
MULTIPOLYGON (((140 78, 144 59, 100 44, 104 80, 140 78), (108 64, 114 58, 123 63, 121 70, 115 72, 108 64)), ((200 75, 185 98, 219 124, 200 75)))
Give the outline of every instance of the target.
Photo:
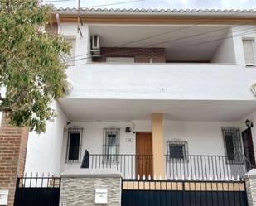
POLYGON ((163 152, 163 125, 162 113, 152 113, 152 153, 153 173, 159 179, 165 177, 163 152))

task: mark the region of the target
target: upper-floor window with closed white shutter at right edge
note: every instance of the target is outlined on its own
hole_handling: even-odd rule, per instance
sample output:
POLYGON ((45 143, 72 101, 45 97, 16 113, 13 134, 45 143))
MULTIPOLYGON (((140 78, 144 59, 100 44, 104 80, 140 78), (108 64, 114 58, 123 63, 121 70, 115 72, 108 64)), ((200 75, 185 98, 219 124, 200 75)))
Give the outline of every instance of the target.
POLYGON ((244 60, 245 65, 254 66, 255 65, 255 57, 254 57, 254 40, 243 40, 244 46, 244 60))

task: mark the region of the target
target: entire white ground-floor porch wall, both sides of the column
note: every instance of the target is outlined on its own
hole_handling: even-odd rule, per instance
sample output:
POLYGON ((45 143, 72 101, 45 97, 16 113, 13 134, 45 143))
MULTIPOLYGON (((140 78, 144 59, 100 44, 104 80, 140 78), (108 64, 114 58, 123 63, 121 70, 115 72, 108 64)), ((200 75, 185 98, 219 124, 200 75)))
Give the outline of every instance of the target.
MULTIPOLYGON (((151 132, 151 121, 134 120, 136 132, 151 132)), ((72 122, 72 126, 81 127, 83 131, 81 158, 87 149, 90 154, 102 154, 104 127, 119 127, 120 154, 135 154, 136 138, 133 132, 125 132, 125 127, 132 127, 131 122, 72 122), (127 142, 131 138, 132 142, 127 142)), ((180 139, 188 141, 189 155, 225 156, 221 127, 239 127, 240 122, 183 122, 164 121, 164 154, 167 154, 167 141, 180 139)), ((80 168, 80 163, 65 163, 67 133, 63 141, 61 171, 80 168)), ((164 157, 163 157, 164 158, 164 157)), ((134 161, 133 161, 134 163, 134 161)))

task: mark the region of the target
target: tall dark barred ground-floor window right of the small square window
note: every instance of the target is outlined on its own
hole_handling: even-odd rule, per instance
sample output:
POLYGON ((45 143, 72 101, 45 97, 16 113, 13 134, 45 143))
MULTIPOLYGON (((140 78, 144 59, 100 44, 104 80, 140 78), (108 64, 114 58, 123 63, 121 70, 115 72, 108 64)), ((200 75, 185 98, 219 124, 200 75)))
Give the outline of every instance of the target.
POLYGON ((225 156, 229 163, 241 163, 242 146, 238 128, 222 128, 225 145, 225 156))

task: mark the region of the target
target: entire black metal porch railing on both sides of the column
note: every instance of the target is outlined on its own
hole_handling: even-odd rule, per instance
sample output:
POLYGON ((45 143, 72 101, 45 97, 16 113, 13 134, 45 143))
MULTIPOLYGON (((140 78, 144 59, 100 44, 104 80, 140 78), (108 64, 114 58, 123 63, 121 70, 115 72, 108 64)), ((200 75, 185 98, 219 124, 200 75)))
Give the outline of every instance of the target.
MULTIPOLYGON (((166 180, 238 180, 253 168, 243 154, 232 156, 184 156, 182 159, 165 158, 166 180)), ((85 156, 82 168, 115 170, 123 179, 154 179, 153 156, 150 155, 102 155, 85 156)))

